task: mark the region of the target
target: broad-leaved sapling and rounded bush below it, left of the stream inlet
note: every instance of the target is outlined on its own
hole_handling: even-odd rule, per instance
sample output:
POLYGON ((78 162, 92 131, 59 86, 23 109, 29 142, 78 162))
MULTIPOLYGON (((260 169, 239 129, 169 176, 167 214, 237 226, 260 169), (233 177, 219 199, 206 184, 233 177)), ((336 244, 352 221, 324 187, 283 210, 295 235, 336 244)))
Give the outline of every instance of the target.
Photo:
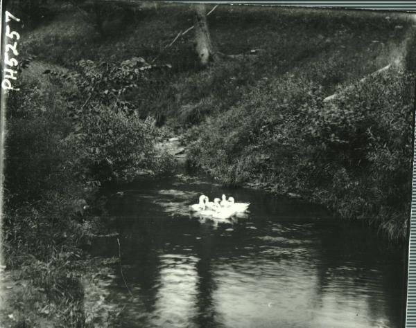
POLYGON ((125 98, 148 87, 148 70, 168 66, 150 65, 141 57, 121 63, 82 60, 77 66, 77 71, 46 73, 57 83, 73 85, 65 95, 70 100, 73 131, 64 143, 76 154, 73 163, 78 176, 102 183, 169 172, 173 158, 155 152, 159 136, 155 120, 143 119, 146 112, 139 110, 140 102, 125 98), (80 95, 87 100, 80 102, 80 95))

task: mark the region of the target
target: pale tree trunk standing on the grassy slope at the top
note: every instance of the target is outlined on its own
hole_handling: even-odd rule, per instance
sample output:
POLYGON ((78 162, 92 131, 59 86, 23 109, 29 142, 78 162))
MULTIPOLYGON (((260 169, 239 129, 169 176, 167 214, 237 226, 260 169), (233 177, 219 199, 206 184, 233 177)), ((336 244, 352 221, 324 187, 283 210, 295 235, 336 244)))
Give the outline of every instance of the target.
POLYGON ((216 52, 209 36, 205 4, 197 3, 194 8, 196 53, 200 64, 207 66, 211 60, 216 60, 216 52))

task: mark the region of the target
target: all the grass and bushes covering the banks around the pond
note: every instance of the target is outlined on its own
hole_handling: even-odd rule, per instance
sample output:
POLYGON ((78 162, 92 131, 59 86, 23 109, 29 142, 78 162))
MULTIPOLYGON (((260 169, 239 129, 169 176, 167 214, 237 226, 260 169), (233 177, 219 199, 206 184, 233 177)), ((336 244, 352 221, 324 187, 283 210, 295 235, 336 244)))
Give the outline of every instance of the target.
MULTIPOLYGON (((166 31, 189 28, 192 13, 182 6, 158 4, 133 18, 114 3, 71 1, 86 20, 75 8, 63 14, 45 1, 18 2, 22 14, 13 13, 38 26, 21 37, 21 57, 67 66, 32 72, 35 82, 26 75, 8 99, 6 262, 29 281, 20 300, 44 318, 85 324, 73 263, 100 224, 87 205, 101 183, 173 169, 173 157, 153 145, 165 122, 193 143, 193 164, 227 185, 268 183, 404 236, 413 98, 402 91, 413 76, 389 72, 323 102, 390 62, 403 21, 220 6, 209 17, 212 34, 220 51, 241 60, 200 71, 191 33, 156 64, 145 60, 175 37, 166 31), (58 18, 40 26, 52 13, 58 18)), ((35 322, 26 321, 27 307, 21 313, 22 326, 35 322)))

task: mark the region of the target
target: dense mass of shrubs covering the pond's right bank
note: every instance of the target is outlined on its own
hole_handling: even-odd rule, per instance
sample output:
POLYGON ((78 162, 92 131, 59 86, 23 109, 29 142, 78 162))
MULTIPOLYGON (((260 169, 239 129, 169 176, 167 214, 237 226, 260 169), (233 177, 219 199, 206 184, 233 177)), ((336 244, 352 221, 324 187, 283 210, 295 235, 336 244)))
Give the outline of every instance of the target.
POLYGON ((405 237, 414 83, 392 69, 324 102, 322 87, 301 77, 261 82, 194 132, 191 156, 225 184, 257 180, 300 192, 405 237))

